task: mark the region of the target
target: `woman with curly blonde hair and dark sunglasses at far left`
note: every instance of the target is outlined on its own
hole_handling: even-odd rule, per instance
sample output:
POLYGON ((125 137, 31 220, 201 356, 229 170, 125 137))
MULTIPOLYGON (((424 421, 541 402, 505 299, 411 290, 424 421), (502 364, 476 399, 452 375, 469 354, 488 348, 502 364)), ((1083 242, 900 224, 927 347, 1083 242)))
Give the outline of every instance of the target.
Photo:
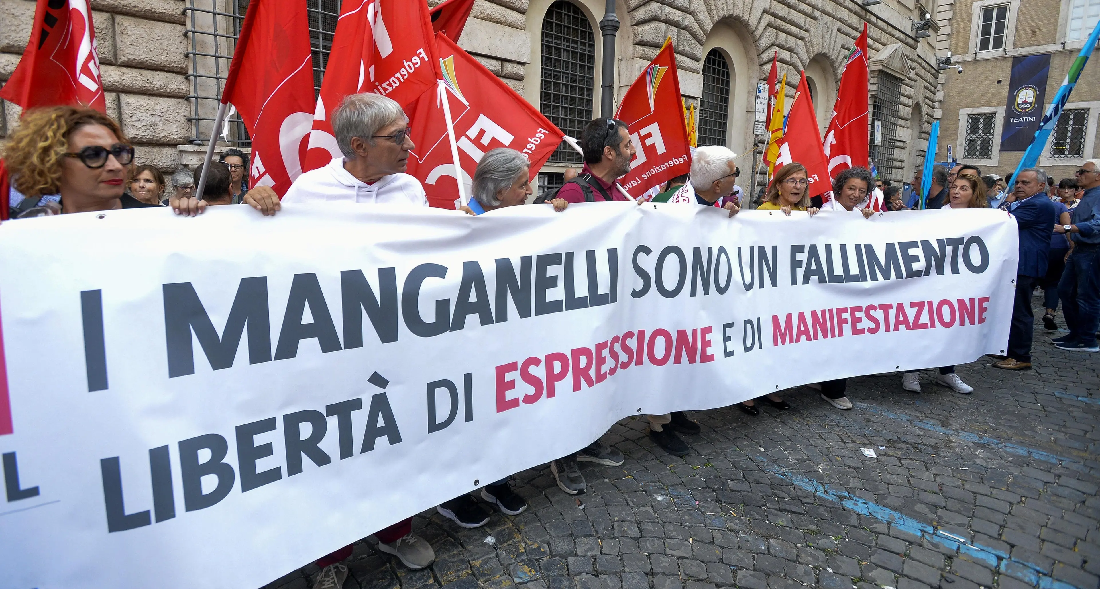
POLYGON ((61 195, 61 212, 151 207, 127 189, 134 148, 110 117, 77 107, 29 110, 8 138, 3 157, 12 187, 26 200, 12 217, 61 195))

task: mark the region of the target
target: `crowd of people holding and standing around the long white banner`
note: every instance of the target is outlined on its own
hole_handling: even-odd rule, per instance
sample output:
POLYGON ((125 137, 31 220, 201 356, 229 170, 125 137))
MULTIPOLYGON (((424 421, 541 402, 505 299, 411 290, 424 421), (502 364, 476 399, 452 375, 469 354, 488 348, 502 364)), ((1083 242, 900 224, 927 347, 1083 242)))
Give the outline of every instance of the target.
MULTIPOLYGON (((206 174, 204 199, 195 197, 194 172, 179 171, 166 181, 152 165, 135 165, 135 150, 122 130, 109 117, 89 109, 55 107, 29 111, 10 135, 3 156, 11 173, 10 205, 13 218, 57 214, 162 206, 167 203, 177 214, 195 216, 208 206, 243 203, 264 216, 276 215, 282 204, 360 203, 407 207, 428 206, 420 182, 405 173, 410 150, 408 119, 389 98, 362 94, 349 96, 333 113, 332 127, 342 156, 328 165, 301 174, 284 198, 268 186, 250 188, 248 155, 227 150, 211 162, 206 174), (166 195, 170 182, 170 195, 166 195)), ((570 175, 563 186, 540 195, 536 203, 564 211, 570 204, 625 201, 618 178, 630 168, 635 146, 626 123, 597 118, 581 135, 584 166, 570 175)), ((673 179, 654 200, 718 207, 735 217, 741 207, 736 179, 740 171, 735 154, 724 146, 696 150, 686 177, 673 179)), ((916 183, 914 183, 915 185, 916 183)), ((1053 339, 1057 347, 1082 352, 1098 351, 1097 327, 1100 314, 1100 162, 1087 161, 1075 178, 1057 183, 1040 168, 1020 172, 1012 183, 997 175, 982 176, 971 165, 952 170, 937 168, 924 208, 1003 208, 1011 214, 1020 231, 1020 262, 1008 353, 993 363, 1005 370, 1032 368, 1032 296, 1044 291, 1043 316, 1047 329, 1057 329, 1058 304, 1068 334, 1053 339), (1005 194, 1005 187, 1012 192, 1005 194)), ((782 166, 768 185, 760 209, 815 215, 822 209, 847 211, 869 218, 869 195, 881 189, 889 210, 906 210, 914 201, 903 203, 898 187, 877 182, 864 167, 850 167, 837 175, 832 197, 811 197, 806 168, 799 163, 782 166)), ((480 161, 473 176, 473 198, 463 211, 483 215, 495 209, 521 206, 530 200, 530 166, 526 157, 510 149, 495 149, 480 161)), ((457 212, 459 214, 459 212, 457 212)), ((734 222, 734 221, 732 221, 734 222)), ((953 391, 968 394, 967 385, 955 367, 939 367, 934 380, 953 391)), ((847 379, 810 385, 823 400, 838 410, 851 410, 847 379)), ((901 386, 921 392, 920 372, 902 375, 901 386)), ((769 392, 739 404, 749 415, 759 415, 756 403, 762 401, 779 410, 790 404, 778 392, 769 392)), ((690 450, 680 434, 697 434, 700 426, 683 412, 649 415, 649 436, 666 451, 683 456, 690 450)), ((579 462, 619 466, 623 454, 596 440, 574 454, 550 463, 558 486, 569 494, 586 490, 579 462)), ((484 525, 490 514, 486 505, 516 515, 527 504, 508 480, 483 488, 484 503, 466 494, 439 505, 438 511, 464 527, 484 525)), ((411 519, 375 533, 378 549, 392 554, 410 568, 428 566, 435 558, 431 546, 411 530, 411 519)), ((320 559, 318 588, 341 587, 348 569, 341 564, 351 555, 351 546, 320 559)))

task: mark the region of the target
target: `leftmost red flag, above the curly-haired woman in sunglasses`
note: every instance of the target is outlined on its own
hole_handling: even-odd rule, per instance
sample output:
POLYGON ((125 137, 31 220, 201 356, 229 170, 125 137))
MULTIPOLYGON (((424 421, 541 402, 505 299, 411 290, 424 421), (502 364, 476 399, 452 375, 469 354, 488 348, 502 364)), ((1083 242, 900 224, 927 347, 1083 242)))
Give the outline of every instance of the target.
POLYGON ((80 105, 107 111, 87 0, 38 0, 31 40, 0 98, 24 110, 80 105))

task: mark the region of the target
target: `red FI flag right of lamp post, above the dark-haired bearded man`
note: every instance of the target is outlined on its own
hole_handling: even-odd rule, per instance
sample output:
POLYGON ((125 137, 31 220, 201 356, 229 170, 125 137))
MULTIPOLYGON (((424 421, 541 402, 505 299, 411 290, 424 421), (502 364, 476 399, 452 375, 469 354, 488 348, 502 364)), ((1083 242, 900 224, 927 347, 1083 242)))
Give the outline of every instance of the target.
POLYGON ((615 118, 627 124, 637 153, 619 178, 638 198, 646 190, 691 171, 691 142, 682 116, 680 78, 671 39, 623 96, 615 118))

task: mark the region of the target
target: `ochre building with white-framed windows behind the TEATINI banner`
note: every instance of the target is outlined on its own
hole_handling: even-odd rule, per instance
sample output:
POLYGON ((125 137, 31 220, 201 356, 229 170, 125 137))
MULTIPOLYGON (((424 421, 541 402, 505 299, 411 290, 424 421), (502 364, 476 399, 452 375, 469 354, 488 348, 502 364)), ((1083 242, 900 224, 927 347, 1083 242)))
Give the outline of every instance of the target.
MULTIPOLYGON (((1013 61, 1049 55, 1045 100, 1027 113, 1042 119, 1096 26, 1100 0, 943 2, 952 35, 941 50, 942 54, 946 54, 943 50, 952 52, 953 66, 945 70, 936 160, 945 161, 950 145, 958 161, 980 166, 983 174, 988 171, 1008 176, 1023 155, 1023 149, 1002 150, 1001 143, 1007 118, 1020 116, 1009 103, 1013 61), (961 66, 963 73, 958 74, 955 66, 961 66)), ((1074 171, 1085 160, 1100 156, 1096 150, 1100 119, 1098 62, 1093 57, 1081 73, 1040 159, 1038 165, 1056 178, 1074 177, 1074 171)))

